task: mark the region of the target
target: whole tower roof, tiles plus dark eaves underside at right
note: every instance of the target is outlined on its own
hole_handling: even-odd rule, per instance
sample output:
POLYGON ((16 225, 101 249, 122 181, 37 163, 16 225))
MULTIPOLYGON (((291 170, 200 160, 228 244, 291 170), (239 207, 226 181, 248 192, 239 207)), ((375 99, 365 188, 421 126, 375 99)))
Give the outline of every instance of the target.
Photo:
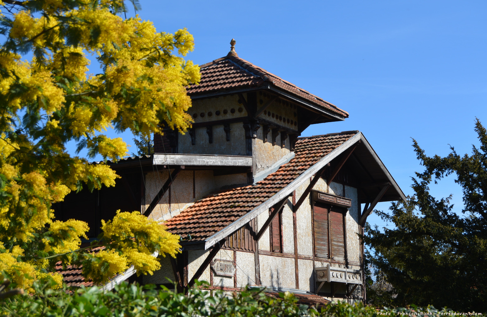
POLYGON ((215 59, 200 67, 200 84, 187 87, 191 99, 264 90, 298 104, 305 117, 313 114, 312 123, 342 121, 349 116, 334 104, 236 56, 215 59))

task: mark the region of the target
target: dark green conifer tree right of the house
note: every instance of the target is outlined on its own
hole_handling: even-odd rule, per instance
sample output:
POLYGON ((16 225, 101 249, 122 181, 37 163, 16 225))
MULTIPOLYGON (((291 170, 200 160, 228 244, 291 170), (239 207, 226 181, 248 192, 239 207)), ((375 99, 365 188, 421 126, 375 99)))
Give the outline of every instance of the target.
POLYGON ((450 147, 446 157, 428 157, 414 140, 425 167, 412 178, 414 196, 394 202, 389 214, 378 212, 394 229, 366 227, 364 241, 375 249, 369 261, 395 289, 395 305, 487 311, 487 131, 478 119, 475 131, 480 147, 472 146, 471 155, 450 147), (436 199, 429 192, 431 182, 448 175, 463 190, 460 216, 451 195, 436 199))

